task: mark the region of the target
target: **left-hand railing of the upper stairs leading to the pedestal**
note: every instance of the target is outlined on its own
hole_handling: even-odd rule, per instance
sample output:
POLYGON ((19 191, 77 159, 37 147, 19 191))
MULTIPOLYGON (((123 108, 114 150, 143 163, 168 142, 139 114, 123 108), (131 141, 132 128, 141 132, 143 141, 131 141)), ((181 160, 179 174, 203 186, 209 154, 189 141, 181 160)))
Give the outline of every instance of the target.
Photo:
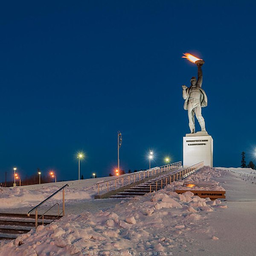
POLYGON ((95 186, 97 186, 97 190, 98 190, 98 195, 100 194, 100 190, 101 191, 114 191, 120 187, 123 186, 127 186, 133 183, 136 183, 140 180, 144 180, 148 177, 151 177, 153 175, 157 175, 159 173, 162 172, 168 172, 171 171, 172 169, 181 167, 181 161, 176 162, 176 163, 171 163, 171 164, 167 164, 164 166, 160 166, 160 167, 154 167, 151 169, 147 169, 145 171, 140 171, 140 172, 134 172, 134 173, 130 173, 130 174, 126 174, 126 175, 121 175, 118 177, 115 177, 111 180, 106 180, 106 181, 101 181, 95 184, 95 186))

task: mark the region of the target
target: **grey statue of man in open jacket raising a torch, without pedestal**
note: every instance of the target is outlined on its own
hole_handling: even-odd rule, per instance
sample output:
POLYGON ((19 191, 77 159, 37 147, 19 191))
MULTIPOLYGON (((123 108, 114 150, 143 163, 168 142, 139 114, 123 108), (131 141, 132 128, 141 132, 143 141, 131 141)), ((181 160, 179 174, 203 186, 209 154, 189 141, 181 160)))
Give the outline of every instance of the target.
POLYGON ((184 109, 188 110, 189 128, 192 134, 195 133, 195 116, 201 126, 201 131, 206 131, 204 117, 201 113, 201 107, 207 106, 207 96, 201 88, 203 82, 202 65, 204 61, 199 60, 195 64, 198 67, 198 79, 196 80, 195 76, 193 76, 190 80, 191 85, 189 88, 186 85, 182 85, 182 96, 185 99, 184 109))

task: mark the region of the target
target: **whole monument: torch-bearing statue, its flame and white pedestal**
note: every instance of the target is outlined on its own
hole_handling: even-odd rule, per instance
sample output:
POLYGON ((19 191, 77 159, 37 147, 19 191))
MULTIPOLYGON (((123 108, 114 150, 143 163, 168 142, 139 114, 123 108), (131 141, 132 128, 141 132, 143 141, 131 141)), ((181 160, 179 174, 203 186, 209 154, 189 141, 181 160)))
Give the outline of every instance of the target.
POLYGON ((212 167, 213 140, 205 129, 201 108, 207 106, 207 96, 202 87, 204 61, 185 53, 183 58, 195 63, 198 67, 198 79, 193 76, 190 87, 182 86, 182 96, 185 100, 184 109, 188 111, 190 134, 183 137, 183 166, 189 167, 204 161, 205 166, 212 167), (201 126, 201 131, 195 132, 195 116, 201 126))

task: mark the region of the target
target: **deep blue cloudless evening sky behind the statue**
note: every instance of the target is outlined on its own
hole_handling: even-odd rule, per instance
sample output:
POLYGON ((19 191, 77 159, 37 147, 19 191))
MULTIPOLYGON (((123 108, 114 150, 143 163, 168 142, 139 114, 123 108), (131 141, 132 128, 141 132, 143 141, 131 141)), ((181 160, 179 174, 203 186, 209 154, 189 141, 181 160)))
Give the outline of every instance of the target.
MULTIPOLYGON (((254 1, 5 1, 0 8, 0 180, 54 169, 57 179, 182 160, 181 85, 204 58, 202 109, 214 166, 256 147, 254 1)), ((198 125, 198 124, 197 124, 198 125)), ((199 125, 198 125, 199 126, 199 125)), ((198 130, 197 126, 197 130, 198 130)), ((255 159, 255 158, 254 158, 255 159)))

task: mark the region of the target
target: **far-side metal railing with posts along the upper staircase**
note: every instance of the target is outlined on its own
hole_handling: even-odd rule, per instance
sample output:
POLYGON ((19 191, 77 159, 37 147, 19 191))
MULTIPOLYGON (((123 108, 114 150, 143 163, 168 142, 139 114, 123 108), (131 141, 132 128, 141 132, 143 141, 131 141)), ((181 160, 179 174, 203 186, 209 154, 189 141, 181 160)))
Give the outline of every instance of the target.
MULTIPOLYGON (((109 191, 110 186, 112 186, 112 187, 114 186, 114 190, 115 190, 117 188, 117 185, 119 185, 118 183, 120 180, 121 180, 122 186, 124 186, 124 183, 125 183, 124 179, 126 179, 126 181, 127 181, 127 184, 125 184, 125 185, 128 185, 128 184, 130 185, 130 184, 138 181, 137 180, 138 177, 136 177, 136 175, 139 176, 139 180, 143 180, 146 178, 146 176, 149 177, 150 172, 151 172, 150 176, 152 176, 152 175, 156 175, 157 173, 160 173, 160 172, 162 173, 162 172, 170 171, 170 170, 174 169, 175 167, 180 167, 180 166, 181 166, 181 161, 176 162, 176 163, 171 163, 168 165, 164 165, 164 166, 160 166, 160 167, 154 167, 154 168, 151 168, 151 169, 148 169, 145 171, 130 173, 130 174, 124 175, 124 176, 122 175, 122 177, 119 176, 119 177, 113 178, 111 180, 101 181, 101 182, 96 183, 95 186, 98 186, 98 195, 99 195, 100 185, 102 185, 103 183, 105 183, 107 185, 107 191, 109 191), (145 175, 146 173, 147 173, 147 175, 145 175), (140 178, 140 175, 143 176, 142 179, 140 178), (134 176, 134 178, 133 178, 134 181, 132 181, 130 179, 131 176, 134 176), (131 180, 131 182, 130 182, 130 180, 131 180)), ((101 187, 101 191, 102 191, 102 187, 101 187)))

